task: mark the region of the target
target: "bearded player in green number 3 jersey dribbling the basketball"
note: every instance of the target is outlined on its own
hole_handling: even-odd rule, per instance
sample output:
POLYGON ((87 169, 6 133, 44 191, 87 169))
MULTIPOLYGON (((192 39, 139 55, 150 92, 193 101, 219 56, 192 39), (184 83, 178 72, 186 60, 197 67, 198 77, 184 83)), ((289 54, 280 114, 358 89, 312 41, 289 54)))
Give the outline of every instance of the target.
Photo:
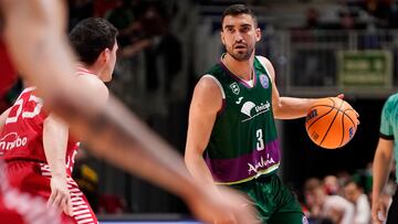
POLYGON ((249 194, 259 223, 306 223, 275 174, 281 154, 274 119, 304 117, 314 99, 280 97, 271 62, 254 54, 261 31, 249 8, 229 7, 221 24, 227 53, 198 82, 190 105, 188 170, 216 192, 216 184, 227 184, 249 194))

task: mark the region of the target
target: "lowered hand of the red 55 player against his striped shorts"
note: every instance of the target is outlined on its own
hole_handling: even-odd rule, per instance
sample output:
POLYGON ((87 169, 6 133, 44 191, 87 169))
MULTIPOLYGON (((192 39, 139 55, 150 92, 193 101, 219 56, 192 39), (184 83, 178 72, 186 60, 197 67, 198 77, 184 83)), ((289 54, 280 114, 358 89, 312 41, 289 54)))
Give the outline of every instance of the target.
POLYGON ((73 215, 71 194, 67 190, 66 178, 51 178, 51 195, 48 201, 48 206, 63 211, 66 215, 73 215))

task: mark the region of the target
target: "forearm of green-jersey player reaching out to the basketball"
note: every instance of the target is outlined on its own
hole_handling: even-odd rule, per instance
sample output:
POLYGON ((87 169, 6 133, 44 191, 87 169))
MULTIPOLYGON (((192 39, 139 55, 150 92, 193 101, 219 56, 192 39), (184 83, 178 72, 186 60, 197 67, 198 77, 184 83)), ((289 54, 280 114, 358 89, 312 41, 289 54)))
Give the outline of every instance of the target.
POLYGON ((277 119, 295 119, 305 117, 315 99, 280 97, 274 105, 273 113, 277 119))

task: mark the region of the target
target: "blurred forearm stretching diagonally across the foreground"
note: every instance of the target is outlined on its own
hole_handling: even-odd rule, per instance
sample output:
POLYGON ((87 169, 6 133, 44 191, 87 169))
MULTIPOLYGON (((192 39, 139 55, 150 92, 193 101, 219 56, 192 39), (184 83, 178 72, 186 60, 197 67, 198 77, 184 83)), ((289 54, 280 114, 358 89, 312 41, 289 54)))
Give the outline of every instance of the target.
POLYGON ((97 114, 81 104, 84 97, 80 102, 67 95, 57 97, 54 108, 97 157, 184 198, 198 189, 181 156, 114 97, 97 114))

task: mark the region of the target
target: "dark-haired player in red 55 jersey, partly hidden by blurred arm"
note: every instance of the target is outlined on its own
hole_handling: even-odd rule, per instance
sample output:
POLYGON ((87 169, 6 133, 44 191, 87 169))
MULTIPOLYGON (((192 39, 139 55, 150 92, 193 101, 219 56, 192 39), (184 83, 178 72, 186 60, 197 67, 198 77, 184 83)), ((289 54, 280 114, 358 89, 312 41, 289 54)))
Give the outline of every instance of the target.
MULTIPOLYGON (((103 82, 112 79, 116 62, 117 30, 100 18, 81 21, 70 33, 80 57, 77 82, 95 88, 97 106, 107 100, 103 82)), ((0 135, 0 150, 7 161, 11 185, 49 200, 63 210, 63 221, 97 223, 87 200, 72 180, 77 150, 67 126, 43 108, 35 87, 25 88, 7 114, 0 135), (66 166, 66 169, 65 169, 66 166)))

